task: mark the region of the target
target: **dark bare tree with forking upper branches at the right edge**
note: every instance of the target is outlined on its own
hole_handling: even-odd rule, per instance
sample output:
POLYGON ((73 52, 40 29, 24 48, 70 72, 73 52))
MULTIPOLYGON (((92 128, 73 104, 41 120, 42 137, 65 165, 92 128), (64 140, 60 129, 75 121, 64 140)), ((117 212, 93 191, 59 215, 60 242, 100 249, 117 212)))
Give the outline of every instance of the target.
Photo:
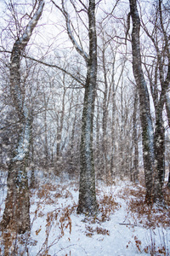
MULTIPOLYGON (((150 38, 152 49, 152 62, 144 61, 146 75, 150 84, 150 91, 155 107, 155 157, 156 172, 154 177, 155 200, 162 201, 162 186, 165 177, 165 128, 163 121, 163 108, 166 103, 168 118, 168 86, 170 82, 170 52, 169 52, 169 20, 166 4, 161 0, 156 3, 153 9, 155 15, 150 20, 149 29, 142 20, 144 32, 150 38)), ((149 58, 148 58, 149 59, 149 58)))

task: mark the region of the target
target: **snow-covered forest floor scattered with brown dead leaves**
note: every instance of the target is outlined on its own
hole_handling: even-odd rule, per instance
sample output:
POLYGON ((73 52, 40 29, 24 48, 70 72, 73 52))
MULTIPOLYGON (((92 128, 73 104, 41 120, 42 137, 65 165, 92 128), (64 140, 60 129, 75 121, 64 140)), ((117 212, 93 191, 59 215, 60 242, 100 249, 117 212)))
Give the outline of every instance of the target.
MULTIPOLYGON (((170 196, 166 207, 144 204, 144 188, 127 181, 97 185, 99 215, 77 215, 78 183, 36 172, 31 236, 0 234, 0 255, 170 255, 170 196), (10 245, 10 246, 9 246, 10 245), (12 253, 12 251, 14 253, 12 253), (8 252, 8 253, 7 253, 8 252)), ((0 174, 0 220, 6 197, 0 174)))

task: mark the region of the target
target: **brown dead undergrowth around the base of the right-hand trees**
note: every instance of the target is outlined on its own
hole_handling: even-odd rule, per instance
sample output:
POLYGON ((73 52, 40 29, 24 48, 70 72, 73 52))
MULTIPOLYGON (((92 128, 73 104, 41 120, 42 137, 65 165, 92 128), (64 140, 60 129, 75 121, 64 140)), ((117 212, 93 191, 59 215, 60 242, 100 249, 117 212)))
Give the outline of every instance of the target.
POLYGON ((119 194, 127 201, 127 214, 145 228, 170 226, 170 195, 164 191, 165 206, 157 207, 145 202, 145 189, 141 186, 127 186, 119 194))

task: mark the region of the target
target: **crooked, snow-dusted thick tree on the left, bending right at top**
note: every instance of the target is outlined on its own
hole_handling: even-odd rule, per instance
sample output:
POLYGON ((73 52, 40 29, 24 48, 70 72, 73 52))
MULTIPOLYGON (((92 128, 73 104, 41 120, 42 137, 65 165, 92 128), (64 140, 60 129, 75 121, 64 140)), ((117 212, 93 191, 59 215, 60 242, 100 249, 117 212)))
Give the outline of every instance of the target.
MULTIPOLYGON (((39 0, 34 5, 30 21, 15 39, 9 64, 10 91, 15 112, 20 121, 20 131, 18 143, 14 147, 13 158, 8 165, 8 194, 1 227, 3 230, 13 228, 17 233, 25 233, 26 230, 31 228, 30 199, 26 174, 26 161, 31 138, 31 116, 30 109, 26 106, 25 90, 20 83, 20 63, 31 34, 42 15, 43 6, 43 0, 39 0)), ((12 3, 10 7, 14 11, 12 3)))

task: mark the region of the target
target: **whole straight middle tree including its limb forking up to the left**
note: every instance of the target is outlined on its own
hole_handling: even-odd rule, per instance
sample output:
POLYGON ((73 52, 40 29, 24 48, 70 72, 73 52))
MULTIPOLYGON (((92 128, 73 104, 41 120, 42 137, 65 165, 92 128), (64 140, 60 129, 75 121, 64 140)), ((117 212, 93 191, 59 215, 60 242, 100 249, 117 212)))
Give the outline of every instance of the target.
MULTIPOLYGON (((54 1, 52 0, 52 3, 54 1)), ((94 215, 98 212, 98 205, 95 195, 95 173, 94 173, 94 157, 93 157, 93 123, 94 123, 94 101, 96 94, 96 75, 97 75, 97 37, 95 26, 95 1, 89 0, 88 7, 77 1, 78 5, 81 4, 80 12, 85 12, 88 15, 88 38, 89 38, 89 53, 87 54, 82 49, 82 42, 79 35, 72 26, 70 16, 65 9, 65 3, 62 0, 61 6, 54 3, 65 17, 66 30, 71 43, 74 45, 77 52, 82 55, 87 66, 87 77, 85 84, 85 94, 82 110, 82 137, 80 146, 80 189, 79 189, 79 204, 77 208, 78 213, 86 213, 94 215), (72 32, 77 35, 79 44, 72 32)), ((81 19, 80 12, 77 12, 77 4, 71 1, 71 5, 81 19)), ((82 24, 84 24, 82 22, 82 24)), ((87 28, 87 27, 86 27, 87 28)))

